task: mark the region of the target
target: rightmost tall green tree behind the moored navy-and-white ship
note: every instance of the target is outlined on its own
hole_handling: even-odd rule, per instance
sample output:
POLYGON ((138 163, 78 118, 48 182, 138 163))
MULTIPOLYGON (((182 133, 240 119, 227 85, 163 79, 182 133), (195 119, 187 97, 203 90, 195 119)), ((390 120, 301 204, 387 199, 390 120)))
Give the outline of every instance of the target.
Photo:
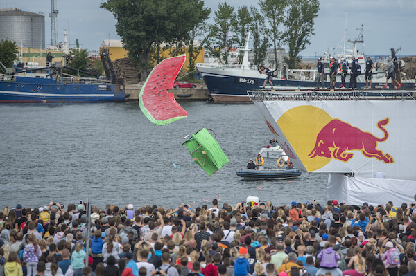
POLYGON ((318 0, 292 0, 284 12, 284 42, 289 48, 286 62, 289 68, 296 68, 302 59, 299 53, 311 44, 311 36, 315 35, 315 18, 318 16, 318 0))

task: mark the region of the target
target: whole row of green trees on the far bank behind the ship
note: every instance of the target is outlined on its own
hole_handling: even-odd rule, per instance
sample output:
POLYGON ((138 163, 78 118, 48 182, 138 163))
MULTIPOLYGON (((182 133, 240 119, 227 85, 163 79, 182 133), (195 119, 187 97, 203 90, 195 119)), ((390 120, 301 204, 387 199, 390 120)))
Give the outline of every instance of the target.
POLYGON ((189 50, 189 71, 202 48, 227 62, 229 49, 244 46, 252 31, 254 64, 263 63, 272 46, 277 66, 277 50, 288 48, 286 62, 295 68, 299 53, 314 35, 318 0, 259 0, 259 8, 234 8, 226 1, 214 11, 213 24, 207 24, 211 9, 202 0, 107 0, 101 8, 116 18, 116 31, 122 37, 130 58, 138 64, 141 80, 160 62, 167 49, 170 55, 189 50), (201 44, 193 44, 200 38, 201 44))

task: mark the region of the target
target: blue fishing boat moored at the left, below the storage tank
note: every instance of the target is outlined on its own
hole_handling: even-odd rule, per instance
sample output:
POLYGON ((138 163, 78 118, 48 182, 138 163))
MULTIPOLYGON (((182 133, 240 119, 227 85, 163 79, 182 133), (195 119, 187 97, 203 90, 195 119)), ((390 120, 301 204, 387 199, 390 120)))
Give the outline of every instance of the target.
POLYGON ((0 102, 125 101, 123 82, 116 80, 115 75, 112 79, 75 77, 62 73, 62 68, 67 67, 56 63, 0 74, 0 102))

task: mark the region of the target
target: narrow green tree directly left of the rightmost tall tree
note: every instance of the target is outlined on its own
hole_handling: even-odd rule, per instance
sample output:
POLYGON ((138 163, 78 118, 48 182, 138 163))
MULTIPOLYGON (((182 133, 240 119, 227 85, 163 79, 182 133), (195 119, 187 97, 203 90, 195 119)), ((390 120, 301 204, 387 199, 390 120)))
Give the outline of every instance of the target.
POLYGON ((270 24, 268 35, 272 38, 275 53, 275 64, 279 64, 277 62, 277 49, 280 48, 281 43, 281 31, 279 30, 279 27, 283 23, 282 15, 287 6, 287 0, 259 0, 259 6, 263 16, 270 24))

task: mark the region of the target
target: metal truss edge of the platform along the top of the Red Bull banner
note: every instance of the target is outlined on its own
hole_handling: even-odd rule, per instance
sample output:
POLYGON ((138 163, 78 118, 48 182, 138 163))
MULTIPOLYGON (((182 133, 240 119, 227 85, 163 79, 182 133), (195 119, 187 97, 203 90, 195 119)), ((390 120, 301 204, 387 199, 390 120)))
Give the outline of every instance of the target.
POLYGON ((315 90, 293 90, 293 91, 247 91, 250 100, 275 101, 322 101, 322 100, 416 100, 414 90, 399 91, 315 91, 315 90))

